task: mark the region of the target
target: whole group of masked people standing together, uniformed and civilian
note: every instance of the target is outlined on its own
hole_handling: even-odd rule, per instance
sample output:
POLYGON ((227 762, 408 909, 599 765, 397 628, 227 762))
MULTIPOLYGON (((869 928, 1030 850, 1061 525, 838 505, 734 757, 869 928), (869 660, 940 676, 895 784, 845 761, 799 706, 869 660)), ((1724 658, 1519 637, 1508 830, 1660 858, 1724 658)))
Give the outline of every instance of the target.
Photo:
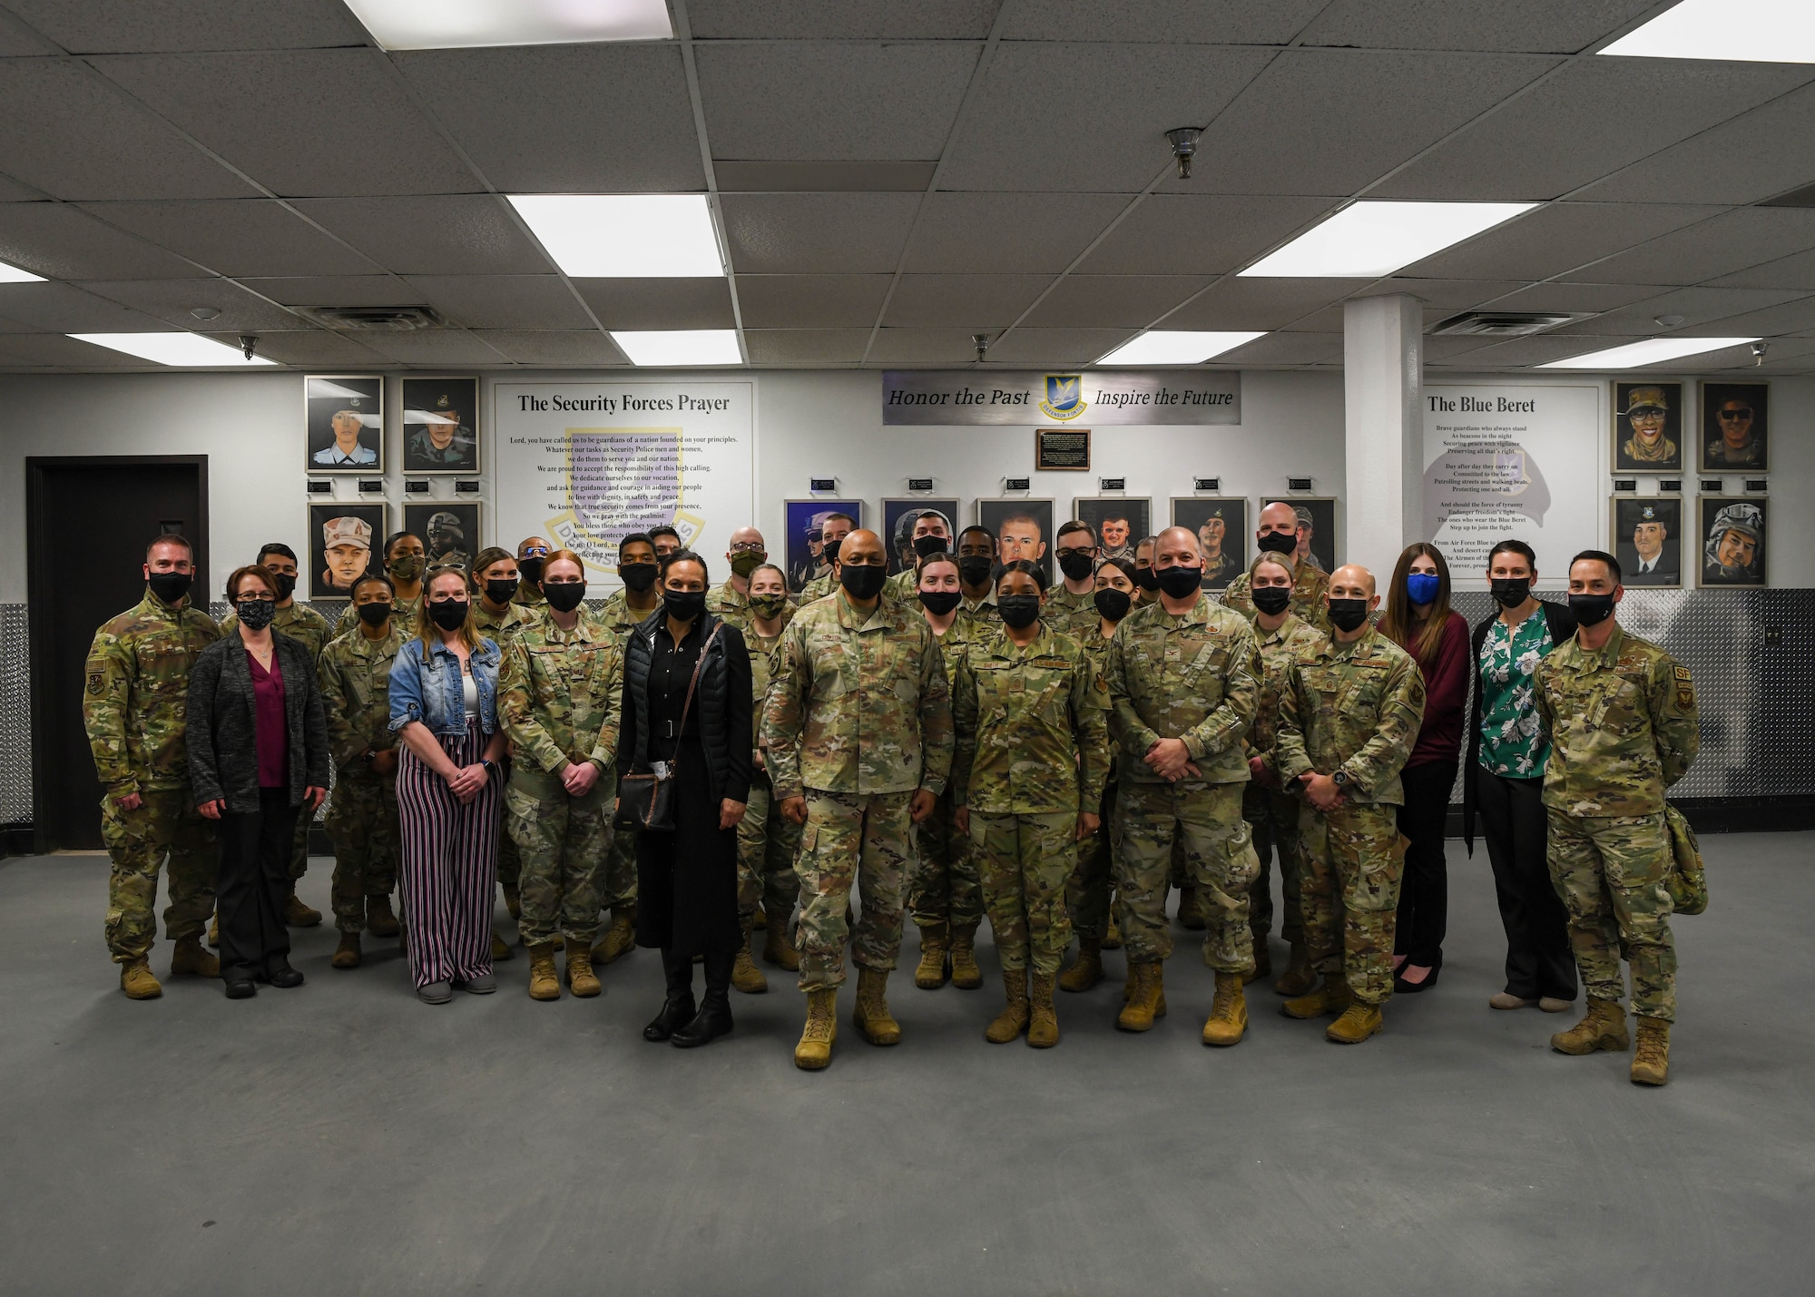
POLYGON ((933 990, 982 985, 987 914, 1004 1006, 984 1034, 1051 1046, 1055 988, 1094 986, 1104 950, 1127 959, 1116 1026, 1165 1015, 1178 886, 1214 972, 1205 1045, 1243 1039, 1276 914, 1281 1012, 1361 1043, 1396 992, 1441 974, 1461 765, 1465 832, 1472 847, 1479 817, 1506 928, 1490 1005, 1566 1010, 1579 968, 1588 1012, 1552 1045, 1624 1050, 1624 957, 1632 1079, 1663 1084, 1663 796, 1695 757, 1697 716, 1688 670, 1619 629, 1617 559, 1579 554, 1568 603, 1546 603, 1532 550, 1503 541, 1486 572, 1499 612, 1470 632, 1436 547, 1407 547, 1379 590, 1365 567, 1320 570, 1301 530, 1289 505, 1261 510, 1258 556, 1218 601, 1182 527, 1129 558, 1069 521, 1049 589, 1031 518, 951 536, 927 510, 889 576, 882 540, 831 514, 799 596, 755 529, 733 532, 715 587, 662 527, 623 540, 603 609, 584 603, 581 558, 541 538, 425 570, 421 541, 394 536, 327 643, 292 601, 285 547, 234 570, 216 629, 189 601, 187 543, 160 538, 145 599, 89 661, 122 986, 158 994, 165 856, 172 972, 218 974, 229 995, 301 983, 292 857, 332 756, 334 966, 359 966, 361 934, 396 934, 427 1003, 495 990, 503 885, 534 999, 563 983, 597 995, 599 965, 659 948, 644 1037, 679 1046, 733 1028, 733 986, 766 990, 764 930, 762 957, 808 999, 795 1063, 817 1070, 846 950, 851 1025, 895 1045, 908 916, 915 985, 933 990), (211 908, 218 965, 200 945, 211 908))

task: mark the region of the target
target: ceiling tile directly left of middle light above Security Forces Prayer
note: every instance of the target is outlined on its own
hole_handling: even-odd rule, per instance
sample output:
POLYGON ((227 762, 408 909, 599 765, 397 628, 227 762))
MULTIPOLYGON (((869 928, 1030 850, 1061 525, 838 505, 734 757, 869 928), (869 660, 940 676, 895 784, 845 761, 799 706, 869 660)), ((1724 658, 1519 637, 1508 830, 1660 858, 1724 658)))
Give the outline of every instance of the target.
POLYGON ((495 194, 299 198, 296 209, 392 274, 554 271, 495 194))

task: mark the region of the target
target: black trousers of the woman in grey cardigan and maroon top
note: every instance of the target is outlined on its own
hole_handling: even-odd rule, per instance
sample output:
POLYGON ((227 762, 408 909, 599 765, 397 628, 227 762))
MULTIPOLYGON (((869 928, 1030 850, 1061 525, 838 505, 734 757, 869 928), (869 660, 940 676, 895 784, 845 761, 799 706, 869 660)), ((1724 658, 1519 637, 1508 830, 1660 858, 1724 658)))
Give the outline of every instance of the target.
POLYGON ((290 894, 290 839, 298 807, 289 788, 260 788, 258 810, 221 816, 220 876, 214 906, 221 919, 221 977, 269 974, 289 965, 290 930, 283 901, 290 894))

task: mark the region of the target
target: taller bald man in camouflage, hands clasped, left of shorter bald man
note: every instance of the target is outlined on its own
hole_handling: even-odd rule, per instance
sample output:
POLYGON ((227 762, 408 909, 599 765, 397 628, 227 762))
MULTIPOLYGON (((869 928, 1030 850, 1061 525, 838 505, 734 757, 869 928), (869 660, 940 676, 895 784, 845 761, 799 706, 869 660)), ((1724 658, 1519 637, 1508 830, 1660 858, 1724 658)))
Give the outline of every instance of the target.
POLYGON ((1196 532, 1160 532, 1154 570, 1160 598, 1131 612, 1109 645, 1109 730, 1120 770, 1116 897, 1129 952, 1116 1026, 1145 1032, 1165 1014, 1167 865, 1182 837, 1209 908, 1203 961, 1216 970, 1203 1043, 1234 1045, 1247 1032, 1241 981, 1254 966, 1247 892, 1256 861, 1241 819, 1249 781, 1241 738, 1260 701, 1260 656, 1249 623, 1203 594, 1196 532))

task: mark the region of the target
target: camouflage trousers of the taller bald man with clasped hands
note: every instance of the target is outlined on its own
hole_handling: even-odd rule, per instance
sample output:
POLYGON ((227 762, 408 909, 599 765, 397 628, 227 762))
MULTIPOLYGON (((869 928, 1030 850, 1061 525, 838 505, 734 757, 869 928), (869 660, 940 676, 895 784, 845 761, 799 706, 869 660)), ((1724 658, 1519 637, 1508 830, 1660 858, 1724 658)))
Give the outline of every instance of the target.
POLYGON ((1122 783, 1114 823, 1116 903, 1131 961, 1172 954, 1165 896, 1176 841, 1203 897, 1203 961, 1216 972, 1252 972, 1247 894, 1258 865, 1241 819, 1241 787, 1122 783))

